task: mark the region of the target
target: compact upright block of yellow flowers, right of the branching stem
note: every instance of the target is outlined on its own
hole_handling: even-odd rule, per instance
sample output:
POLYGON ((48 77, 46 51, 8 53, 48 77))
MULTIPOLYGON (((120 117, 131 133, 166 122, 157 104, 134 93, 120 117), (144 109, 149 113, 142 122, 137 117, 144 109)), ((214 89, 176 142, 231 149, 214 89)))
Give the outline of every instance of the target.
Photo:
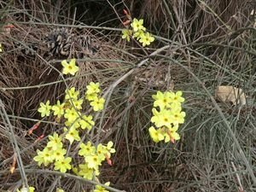
POLYGON ((182 111, 181 104, 184 102, 182 97, 183 92, 172 91, 161 92, 157 91, 154 99, 154 108, 152 112, 154 116, 151 122, 154 126, 149 127, 149 135, 155 143, 165 140, 165 143, 179 140, 180 136, 177 133, 178 125, 183 124, 185 112, 182 111), (158 110, 158 109, 159 110, 158 110))

